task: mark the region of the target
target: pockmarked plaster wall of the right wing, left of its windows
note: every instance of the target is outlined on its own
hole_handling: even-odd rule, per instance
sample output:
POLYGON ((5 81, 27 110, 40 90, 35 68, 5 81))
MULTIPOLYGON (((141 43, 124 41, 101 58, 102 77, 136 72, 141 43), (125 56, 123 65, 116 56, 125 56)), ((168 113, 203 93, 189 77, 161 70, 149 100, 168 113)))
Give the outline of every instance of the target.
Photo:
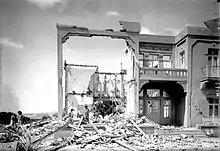
MULTIPOLYGON (((191 82, 191 126, 195 126, 202 122, 202 117, 208 116, 208 101, 205 94, 200 89, 200 80, 204 74, 202 68, 207 65, 208 57, 205 55, 208 53, 208 48, 212 48, 212 42, 198 42, 192 48, 191 46, 195 42, 195 39, 188 39, 189 49, 191 51, 192 63, 188 66, 188 71, 192 72, 191 82), (191 70, 192 68, 192 70, 191 70)), ((219 46, 218 46, 219 47, 219 46)))

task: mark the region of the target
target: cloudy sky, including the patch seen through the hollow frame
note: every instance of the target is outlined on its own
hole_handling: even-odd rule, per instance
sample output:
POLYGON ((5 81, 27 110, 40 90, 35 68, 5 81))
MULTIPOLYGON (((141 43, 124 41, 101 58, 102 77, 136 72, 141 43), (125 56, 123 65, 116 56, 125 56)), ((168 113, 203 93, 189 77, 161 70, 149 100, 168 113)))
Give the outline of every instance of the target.
MULTIPOLYGON (((176 35, 217 15, 215 0, 0 0, 0 110, 57 111, 56 23, 89 29, 121 29, 119 20, 141 23, 142 34, 176 35)), ((119 72, 123 40, 71 37, 67 63, 119 72)))

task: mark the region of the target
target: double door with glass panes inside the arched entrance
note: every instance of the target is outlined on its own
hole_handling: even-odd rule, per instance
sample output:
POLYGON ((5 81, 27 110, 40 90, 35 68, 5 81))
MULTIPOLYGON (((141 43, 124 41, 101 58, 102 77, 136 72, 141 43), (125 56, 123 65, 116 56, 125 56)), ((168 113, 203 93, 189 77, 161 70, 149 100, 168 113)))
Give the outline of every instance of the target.
POLYGON ((144 99, 144 115, 151 121, 171 125, 172 123, 172 101, 169 98, 148 98, 144 99))

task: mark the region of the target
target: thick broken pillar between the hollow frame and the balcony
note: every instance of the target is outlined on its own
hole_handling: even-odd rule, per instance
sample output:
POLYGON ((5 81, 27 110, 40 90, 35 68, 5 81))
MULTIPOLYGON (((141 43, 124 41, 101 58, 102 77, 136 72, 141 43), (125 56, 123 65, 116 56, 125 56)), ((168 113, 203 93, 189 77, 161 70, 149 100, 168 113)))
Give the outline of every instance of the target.
POLYGON ((127 109, 126 113, 137 115, 139 111, 139 32, 140 23, 120 21, 123 30, 127 32, 130 39, 126 40, 129 48, 129 61, 132 68, 127 70, 127 109), (131 71, 132 70, 132 71, 131 71))

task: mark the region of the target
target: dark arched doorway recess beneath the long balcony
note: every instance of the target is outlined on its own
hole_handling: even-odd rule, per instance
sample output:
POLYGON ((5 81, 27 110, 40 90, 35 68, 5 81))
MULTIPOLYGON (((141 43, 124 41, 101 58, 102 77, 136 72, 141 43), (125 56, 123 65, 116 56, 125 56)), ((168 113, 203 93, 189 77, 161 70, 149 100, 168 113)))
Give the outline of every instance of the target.
POLYGON ((142 91, 144 116, 161 125, 183 125, 186 93, 180 84, 149 81, 142 91))

